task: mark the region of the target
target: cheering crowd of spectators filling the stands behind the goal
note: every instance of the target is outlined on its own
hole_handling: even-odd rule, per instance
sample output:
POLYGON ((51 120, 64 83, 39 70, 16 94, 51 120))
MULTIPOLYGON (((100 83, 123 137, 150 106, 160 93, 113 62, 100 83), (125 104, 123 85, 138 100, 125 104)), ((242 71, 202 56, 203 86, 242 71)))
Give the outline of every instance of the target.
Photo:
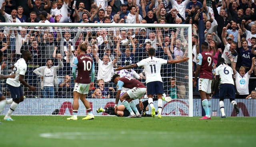
MULTIPOLYGON (((241 98, 256 88, 255 78, 250 78, 249 82, 248 77, 243 78, 243 75, 256 77, 256 65, 252 61, 256 56, 256 0, 0 0, 0 8, 0 22, 192 24, 193 69, 196 69, 196 57, 200 52, 202 35, 198 26, 202 20, 205 42, 214 53, 214 68, 218 58, 223 57, 234 72, 241 69, 245 72, 240 74, 242 78, 238 83, 248 84, 243 87, 248 88, 248 92, 241 98)), ((29 84, 38 86, 38 77, 33 71, 45 66, 47 59, 52 59, 55 66, 61 59, 63 65, 57 72, 59 89, 56 95, 67 97, 70 95, 64 91, 72 91, 70 74, 76 48, 86 44, 87 53, 96 65, 98 83, 95 82, 94 89, 100 90, 94 92, 92 89, 89 95, 111 98, 115 94, 115 85, 111 83, 114 68, 147 58, 149 48, 155 48, 156 57, 166 60, 188 56, 188 40, 182 36, 186 34, 183 28, 83 29, 86 28, 2 27, 0 52, 3 63, 10 68, 23 50, 30 50, 33 61, 28 65, 26 79, 29 84)), ((162 67, 166 94, 172 93, 169 89, 174 78, 170 77, 175 77, 176 97, 185 97, 188 75, 179 72, 184 68, 187 66, 180 64, 162 67), (178 74, 174 73, 174 68, 178 74)), ((144 80, 142 69, 133 72, 136 78, 144 80)), ((237 95, 239 97, 239 92, 237 95)))

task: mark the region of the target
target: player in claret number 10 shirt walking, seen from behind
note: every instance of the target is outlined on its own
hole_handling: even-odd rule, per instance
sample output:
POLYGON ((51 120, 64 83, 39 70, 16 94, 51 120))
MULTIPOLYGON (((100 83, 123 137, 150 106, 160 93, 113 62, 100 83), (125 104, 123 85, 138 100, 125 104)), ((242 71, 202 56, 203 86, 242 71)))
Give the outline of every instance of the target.
POLYGON ((67 118, 67 120, 77 120, 77 113, 79 108, 78 100, 79 98, 84 103, 84 106, 87 109, 88 115, 83 118, 83 120, 94 119, 92 114, 92 108, 90 102, 86 99, 89 88, 92 88, 94 85, 94 63, 90 55, 85 54, 87 46, 85 44, 80 44, 76 50, 78 56, 74 59, 74 66, 72 68, 72 75, 75 79, 74 86, 74 102, 73 102, 73 116, 67 118), (76 78, 76 68, 78 70, 76 78), (92 79, 90 80, 90 73, 92 74, 92 79))

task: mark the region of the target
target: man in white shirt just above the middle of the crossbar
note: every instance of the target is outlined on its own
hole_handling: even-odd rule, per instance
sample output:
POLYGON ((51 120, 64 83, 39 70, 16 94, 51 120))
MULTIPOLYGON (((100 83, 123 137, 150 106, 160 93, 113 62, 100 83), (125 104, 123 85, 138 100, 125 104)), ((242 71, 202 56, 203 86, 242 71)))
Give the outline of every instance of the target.
POLYGON ((128 24, 139 24, 142 20, 140 14, 138 14, 139 7, 132 6, 130 8, 130 13, 127 16, 126 23, 128 24))

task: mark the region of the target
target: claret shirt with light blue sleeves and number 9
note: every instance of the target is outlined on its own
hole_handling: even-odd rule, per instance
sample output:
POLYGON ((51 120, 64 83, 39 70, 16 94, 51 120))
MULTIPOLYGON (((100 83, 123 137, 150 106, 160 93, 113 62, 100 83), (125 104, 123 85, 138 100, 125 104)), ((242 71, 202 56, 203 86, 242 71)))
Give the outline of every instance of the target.
POLYGON ((199 78, 212 79, 213 56, 204 51, 198 54, 197 64, 201 66, 199 78))

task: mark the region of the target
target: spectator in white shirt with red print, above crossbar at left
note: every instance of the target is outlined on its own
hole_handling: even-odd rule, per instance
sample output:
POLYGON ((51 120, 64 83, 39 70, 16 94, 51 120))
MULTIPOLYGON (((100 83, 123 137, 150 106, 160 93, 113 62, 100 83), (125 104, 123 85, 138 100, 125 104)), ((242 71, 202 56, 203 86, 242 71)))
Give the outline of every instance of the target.
POLYGON ((56 22, 68 22, 68 7, 70 6, 69 0, 58 0, 57 8, 52 10, 56 22))

